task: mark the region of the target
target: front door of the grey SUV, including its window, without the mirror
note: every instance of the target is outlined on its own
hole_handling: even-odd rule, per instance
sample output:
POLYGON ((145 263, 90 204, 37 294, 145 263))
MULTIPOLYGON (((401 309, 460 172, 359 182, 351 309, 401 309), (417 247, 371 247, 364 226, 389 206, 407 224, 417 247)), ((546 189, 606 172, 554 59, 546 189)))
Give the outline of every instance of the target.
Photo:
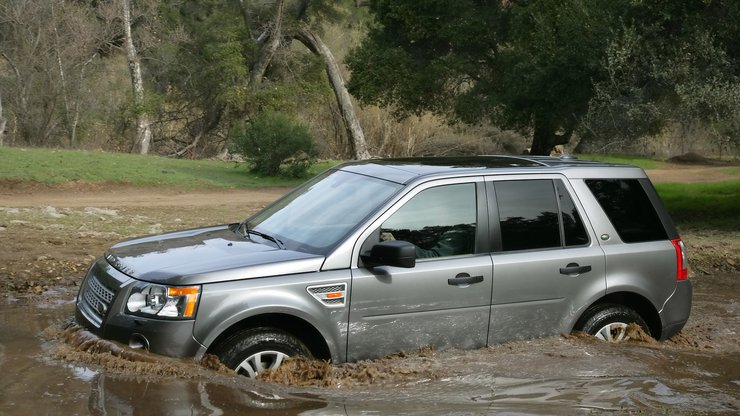
POLYGON ((432 346, 486 345, 491 303, 488 213, 482 178, 414 189, 363 237, 417 246, 416 267, 352 273, 347 359, 432 346))

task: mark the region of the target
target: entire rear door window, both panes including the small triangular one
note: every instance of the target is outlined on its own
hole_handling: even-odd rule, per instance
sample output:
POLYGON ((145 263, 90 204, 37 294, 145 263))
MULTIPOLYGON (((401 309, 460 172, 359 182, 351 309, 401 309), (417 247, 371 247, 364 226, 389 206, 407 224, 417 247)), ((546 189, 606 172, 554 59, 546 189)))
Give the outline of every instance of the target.
POLYGON ((495 248, 534 250, 588 244, 588 234, 560 180, 497 181, 499 216, 495 248))

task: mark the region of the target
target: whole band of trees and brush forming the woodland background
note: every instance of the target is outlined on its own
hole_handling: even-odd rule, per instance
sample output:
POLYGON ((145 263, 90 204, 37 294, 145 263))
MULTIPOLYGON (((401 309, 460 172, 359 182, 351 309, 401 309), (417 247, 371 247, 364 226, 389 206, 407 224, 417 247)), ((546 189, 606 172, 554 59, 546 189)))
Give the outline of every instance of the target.
POLYGON ((253 157, 240 141, 737 157, 740 2, 0 3, 0 146, 253 157))

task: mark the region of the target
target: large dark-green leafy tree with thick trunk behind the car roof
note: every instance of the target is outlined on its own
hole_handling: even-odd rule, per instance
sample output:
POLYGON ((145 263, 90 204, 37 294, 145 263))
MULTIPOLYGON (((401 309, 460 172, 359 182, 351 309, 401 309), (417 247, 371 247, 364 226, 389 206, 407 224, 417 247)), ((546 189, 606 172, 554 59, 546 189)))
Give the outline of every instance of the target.
POLYGON ((376 25, 348 60, 349 89, 399 114, 487 117, 547 154, 588 107, 621 3, 373 1, 376 25))

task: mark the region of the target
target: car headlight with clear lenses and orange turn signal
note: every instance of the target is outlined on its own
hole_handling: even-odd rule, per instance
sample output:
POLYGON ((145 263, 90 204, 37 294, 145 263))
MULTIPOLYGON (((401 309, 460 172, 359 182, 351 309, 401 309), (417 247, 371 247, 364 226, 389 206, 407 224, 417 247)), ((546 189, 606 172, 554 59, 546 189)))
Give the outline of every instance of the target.
POLYGON ((199 294, 200 286, 139 284, 131 291, 126 310, 136 315, 191 319, 195 316, 199 294))

